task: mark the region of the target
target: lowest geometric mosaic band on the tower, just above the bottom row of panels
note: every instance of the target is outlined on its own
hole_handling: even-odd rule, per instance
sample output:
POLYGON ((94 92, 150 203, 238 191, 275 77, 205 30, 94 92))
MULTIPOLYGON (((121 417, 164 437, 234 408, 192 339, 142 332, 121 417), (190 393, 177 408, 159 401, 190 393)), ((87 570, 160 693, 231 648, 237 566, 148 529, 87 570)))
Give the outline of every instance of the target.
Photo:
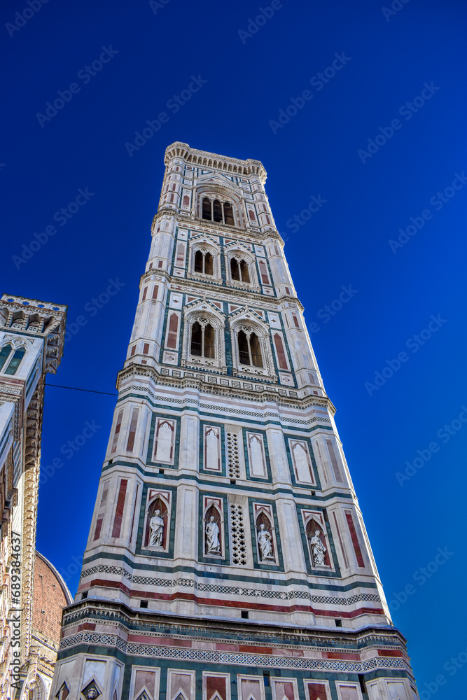
POLYGON ((81 644, 98 644, 116 647, 124 654, 136 657, 155 657, 158 659, 181 659, 183 661, 201 661, 211 664, 230 664, 232 666, 259 666, 261 668, 298 668, 305 671, 333 671, 335 673, 367 673, 377 668, 400 668, 409 671, 405 661, 400 658, 377 657, 366 661, 344 661, 340 659, 305 659, 303 657, 271 656, 270 654, 241 654, 239 652, 220 652, 215 650, 189 649, 187 647, 160 647, 144 643, 125 642, 116 634, 99 632, 78 632, 65 637, 60 642, 60 649, 69 649, 81 644))

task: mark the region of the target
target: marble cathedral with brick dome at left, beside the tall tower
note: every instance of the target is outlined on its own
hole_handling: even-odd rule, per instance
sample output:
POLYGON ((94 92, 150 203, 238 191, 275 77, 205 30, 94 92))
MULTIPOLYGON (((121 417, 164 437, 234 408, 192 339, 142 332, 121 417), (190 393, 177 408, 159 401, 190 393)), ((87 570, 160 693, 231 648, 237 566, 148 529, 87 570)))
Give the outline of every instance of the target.
POLYGON ((36 552, 44 386, 62 359, 66 320, 61 304, 9 294, 0 299, 2 700, 48 698, 58 647, 58 633, 51 639, 49 627, 55 623, 57 630, 70 601, 60 575, 36 552), (55 608, 44 624, 41 579, 52 570, 57 580, 48 605, 52 599, 55 608))

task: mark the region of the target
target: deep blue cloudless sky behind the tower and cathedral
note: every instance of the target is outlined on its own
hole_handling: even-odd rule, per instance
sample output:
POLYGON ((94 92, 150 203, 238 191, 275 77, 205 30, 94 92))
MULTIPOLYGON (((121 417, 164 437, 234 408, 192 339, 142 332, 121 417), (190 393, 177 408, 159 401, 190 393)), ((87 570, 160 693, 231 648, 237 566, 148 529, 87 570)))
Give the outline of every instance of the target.
MULTIPOLYGON (((319 324, 312 342, 394 622, 409 640, 419 687, 442 673, 447 682, 437 698, 460 698, 467 664, 454 675, 443 666, 467 643, 467 424, 454 422, 461 428, 446 442, 436 434, 467 405, 467 187, 447 190, 456 194, 442 207, 436 202, 466 168, 464 3, 410 0, 386 20, 382 1, 284 0, 242 41, 238 30, 261 5, 268 0, 169 0, 155 14, 144 0, 50 0, 19 31, 11 29, 13 36, 2 27, 1 290, 69 304, 69 323, 85 316, 48 381, 113 392, 166 146, 185 141, 261 160, 307 323, 319 324), (102 47, 118 53, 89 80, 78 78, 102 47), (342 52, 350 59, 342 69, 321 90, 317 81, 310 85, 342 52), (167 101, 192 75, 207 83, 174 113, 167 101), (41 126, 36 114, 70 83, 80 91, 41 126), (402 115, 399 109, 424 83, 433 94, 424 93, 430 99, 423 106, 416 100, 419 109, 407 119, 407 108, 402 115), (312 99, 274 134, 270 120, 303 90, 312 99), (130 157, 125 143, 161 111, 168 122, 130 157), (358 150, 397 118, 400 128, 363 163, 358 150), (15 265, 22 245, 53 225, 78 188, 94 194, 66 225, 55 222, 57 233, 30 260, 15 265), (312 195, 326 202, 293 232, 288 220, 312 195), (388 241, 426 209, 431 218, 393 253, 388 241), (109 279, 124 286, 92 315, 86 304, 109 279), (325 323, 320 309, 349 285, 356 293, 325 323), (417 352, 407 348, 438 314, 444 322, 433 337, 417 352), (407 361, 370 396, 365 382, 403 351, 407 361), (439 450, 401 486, 396 472, 433 441, 439 450), (417 571, 438 547, 452 554, 420 584, 417 571), (394 594, 408 584, 414 593, 398 606, 394 594)), ((4 2, 2 24, 25 7, 25 0, 4 2)), ((81 560, 85 548, 114 403, 113 396, 46 390, 43 468, 63 457, 60 448, 85 421, 102 426, 40 489, 38 549, 68 572, 73 593, 73 558, 81 560)))

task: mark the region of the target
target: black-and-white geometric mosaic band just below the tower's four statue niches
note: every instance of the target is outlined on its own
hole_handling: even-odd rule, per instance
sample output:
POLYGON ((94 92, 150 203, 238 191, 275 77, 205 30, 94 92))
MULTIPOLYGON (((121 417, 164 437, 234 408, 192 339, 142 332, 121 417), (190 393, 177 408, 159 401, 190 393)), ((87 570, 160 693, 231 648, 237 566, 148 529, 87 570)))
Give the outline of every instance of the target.
MULTIPOLYGON (((240 509, 242 508, 241 505, 234 506, 233 504, 230 507, 236 507, 240 509)), ((354 603, 360 603, 362 601, 371 603, 381 603, 381 598, 379 598, 378 595, 372 593, 358 593, 353 596, 348 596, 347 598, 338 598, 337 596, 316 596, 309 593, 308 591, 281 592, 260 590, 258 588, 220 586, 214 583, 196 582, 192 578, 172 579, 154 578, 151 576, 141 576, 138 574, 132 575, 125 568, 123 568, 123 566, 109 566, 107 564, 99 564, 98 566, 92 566, 91 568, 83 570, 83 573, 81 573, 81 578, 92 576, 97 573, 112 573, 115 575, 123 576, 132 583, 139 584, 141 586, 160 586, 165 588, 188 587, 197 589, 198 591, 206 591, 207 593, 225 593, 230 596, 246 596, 249 598, 279 598, 280 600, 293 600, 294 598, 297 598, 309 600, 312 601, 312 603, 322 603, 323 605, 354 605, 354 603)))

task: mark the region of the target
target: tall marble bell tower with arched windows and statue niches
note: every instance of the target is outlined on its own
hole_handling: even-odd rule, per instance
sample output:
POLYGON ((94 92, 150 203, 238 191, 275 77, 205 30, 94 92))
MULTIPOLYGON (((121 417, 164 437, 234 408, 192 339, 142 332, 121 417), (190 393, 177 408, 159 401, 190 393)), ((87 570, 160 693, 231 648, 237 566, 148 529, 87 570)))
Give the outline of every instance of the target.
POLYGON ((256 160, 175 143, 59 700, 414 700, 256 160))

